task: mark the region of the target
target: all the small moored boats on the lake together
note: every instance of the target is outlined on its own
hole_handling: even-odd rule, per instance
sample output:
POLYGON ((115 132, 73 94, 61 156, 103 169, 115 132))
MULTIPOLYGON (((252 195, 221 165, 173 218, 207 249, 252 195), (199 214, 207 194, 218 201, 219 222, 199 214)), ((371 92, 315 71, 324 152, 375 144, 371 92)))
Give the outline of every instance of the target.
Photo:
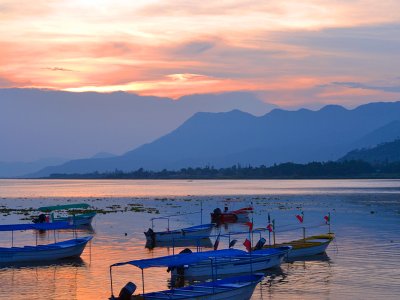
MULTIPOLYGON (((57 205, 39 208, 41 214, 34 220, 33 224, 12 224, 0 225, 0 231, 11 231, 11 247, 0 247, 0 265, 10 265, 18 263, 46 262, 71 257, 79 257, 84 251, 87 243, 92 236, 79 237, 76 233, 78 226, 90 225, 94 212, 85 212, 87 204, 57 205), (75 211, 66 216, 55 215, 57 211, 75 211), (82 211, 83 210, 83 211, 82 211), (34 246, 14 246, 14 232, 23 230, 34 230, 35 232, 56 230, 71 230, 74 238, 54 243, 34 246)), ((303 227, 303 238, 285 243, 275 243, 275 223, 270 222, 268 216, 268 226, 265 228, 253 229, 253 222, 250 222, 249 214, 252 207, 245 207, 239 210, 224 211, 215 209, 211 213, 209 224, 186 227, 182 229, 169 229, 169 217, 153 218, 152 226, 144 232, 146 246, 154 248, 163 245, 174 247, 196 246, 196 252, 189 248, 184 249, 179 254, 156 257, 150 259, 132 260, 115 263, 110 266, 111 297, 116 300, 133 299, 231 299, 243 300, 250 299, 256 285, 263 280, 264 270, 278 267, 283 261, 295 260, 298 257, 305 257, 324 253, 330 242, 334 239, 334 234, 330 232, 330 215, 325 217, 326 224, 329 225, 329 233, 306 237, 305 227, 303 227), (154 221, 159 219, 168 220, 166 231, 155 231, 154 221), (214 235, 215 242, 211 243, 210 237, 214 228, 224 223, 242 222, 249 226, 248 231, 229 232, 221 234, 219 230, 214 235), (268 232, 269 243, 262 237, 263 232, 268 232), (271 233, 273 243, 271 243, 271 233), (247 251, 233 249, 236 235, 248 234, 243 245, 247 251), (259 234, 260 240, 255 246, 251 245, 253 234, 259 234), (228 249, 218 250, 221 237, 228 237, 228 249), (213 250, 203 251, 204 247, 213 247, 213 250), (113 292, 112 270, 122 265, 136 266, 142 271, 142 292, 134 295, 136 285, 128 282, 120 291, 118 296, 113 292), (143 270, 153 267, 164 267, 171 275, 172 282, 184 283, 185 281, 196 281, 196 284, 184 286, 178 284, 177 287, 157 291, 145 292, 143 270)), ((302 223, 303 217, 296 216, 302 223)))

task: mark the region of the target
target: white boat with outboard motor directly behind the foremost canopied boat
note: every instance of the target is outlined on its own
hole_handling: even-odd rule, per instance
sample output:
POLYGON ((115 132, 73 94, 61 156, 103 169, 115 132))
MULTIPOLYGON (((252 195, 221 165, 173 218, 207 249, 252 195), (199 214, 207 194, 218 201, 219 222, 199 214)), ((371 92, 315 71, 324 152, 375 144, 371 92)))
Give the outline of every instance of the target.
POLYGON ((184 279, 195 280, 211 278, 213 275, 222 277, 253 273, 280 266, 288 253, 290 253, 291 248, 291 246, 283 246, 255 250, 251 253, 237 249, 205 251, 202 254, 212 259, 213 269, 210 268, 210 261, 204 260, 195 264, 173 268, 171 275, 173 278, 183 276, 184 279))

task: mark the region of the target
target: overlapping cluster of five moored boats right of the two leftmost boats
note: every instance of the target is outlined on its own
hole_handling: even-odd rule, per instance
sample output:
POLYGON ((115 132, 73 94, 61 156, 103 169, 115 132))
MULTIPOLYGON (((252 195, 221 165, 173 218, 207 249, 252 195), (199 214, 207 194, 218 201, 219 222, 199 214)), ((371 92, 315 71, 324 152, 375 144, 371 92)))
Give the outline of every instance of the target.
MULTIPOLYGON (((152 219, 152 228, 145 232, 147 243, 151 247, 165 245, 169 242, 170 246, 179 246, 179 242, 186 241, 187 245, 197 246, 197 252, 192 252, 186 248, 179 254, 169 256, 140 259, 127 262, 119 262, 110 266, 111 280, 111 300, 133 300, 133 299, 250 299, 256 285, 263 280, 263 271, 278 267, 286 260, 294 260, 297 257, 306 257, 324 253, 329 243, 334 239, 334 234, 329 233, 319 236, 303 237, 282 244, 265 245, 266 240, 260 238, 255 247, 251 247, 252 238, 250 235, 268 231, 275 233, 274 222, 268 224, 266 228, 253 230, 252 222, 249 222, 248 214, 252 208, 243 208, 236 211, 222 212, 214 210, 211 220, 216 223, 202 224, 182 228, 179 230, 154 231, 153 221, 156 219, 166 219, 166 217, 152 219), (209 239, 211 230, 217 224, 224 222, 244 222, 249 226, 249 240, 246 239, 245 245, 248 250, 232 249, 234 242, 229 242, 229 249, 217 250, 221 233, 216 236, 214 250, 201 251, 199 240, 209 239), (122 265, 133 265, 142 271, 142 292, 134 295, 137 286, 128 282, 120 291, 118 296, 114 295, 112 270, 114 267, 122 265), (152 267, 165 267, 171 272, 171 282, 184 283, 185 280, 199 281, 199 283, 174 287, 168 290, 157 292, 145 292, 143 270, 152 267), (259 273, 260 272, 260 273, 259 273)), ((268 219, 270 219, 268 217, 268 219)), ((329 216, 330 220, 330 216, 329 216)), ((301 219, 301 222, 303 219, 301 219)), ((328 222, 326 223, 328 224, 328 222)), ((330 223, 329 223, 330 225, 330 223)), ((305 229, 303 230, 305 233, 305 229)), ((236 234, 246 234, 247 232, 230 232, 229 239, 236 234)), ((261 234, 260 234, 261 236, 261 234)), ((275 240, 275 236, 274 236, 275 240)))

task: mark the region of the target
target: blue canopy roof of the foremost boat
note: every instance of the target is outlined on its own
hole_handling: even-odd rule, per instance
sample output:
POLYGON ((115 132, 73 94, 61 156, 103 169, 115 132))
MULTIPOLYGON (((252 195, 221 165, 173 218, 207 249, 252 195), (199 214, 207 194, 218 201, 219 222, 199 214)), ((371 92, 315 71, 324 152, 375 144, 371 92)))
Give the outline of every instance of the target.
POLYGON ((247 252, 238 249, 225 249, 216 251, 204 251, 196 253, 181 253, 176 255, 168 255, 157 258, 139 259, 127 262, 121 262, 111 265, 111 267, 133 265, 140 269, 153 267, 178 267, 182 265, 190 265, 200 261, 209 260, 217 257, 233 257, 247 255, 247 252))

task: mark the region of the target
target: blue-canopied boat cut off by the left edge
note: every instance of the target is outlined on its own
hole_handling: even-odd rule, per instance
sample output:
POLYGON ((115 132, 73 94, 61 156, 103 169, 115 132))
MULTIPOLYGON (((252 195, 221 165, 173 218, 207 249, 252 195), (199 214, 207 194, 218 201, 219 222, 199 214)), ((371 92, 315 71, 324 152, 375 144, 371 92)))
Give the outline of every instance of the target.
MULTIPOLYGON (((0 231, 58 230, 71 228, 68 223, 0 225, 0 231)), ((92 236, 47 245, 0 247, 0 264, 34 263, 79 257, 92 236)))

